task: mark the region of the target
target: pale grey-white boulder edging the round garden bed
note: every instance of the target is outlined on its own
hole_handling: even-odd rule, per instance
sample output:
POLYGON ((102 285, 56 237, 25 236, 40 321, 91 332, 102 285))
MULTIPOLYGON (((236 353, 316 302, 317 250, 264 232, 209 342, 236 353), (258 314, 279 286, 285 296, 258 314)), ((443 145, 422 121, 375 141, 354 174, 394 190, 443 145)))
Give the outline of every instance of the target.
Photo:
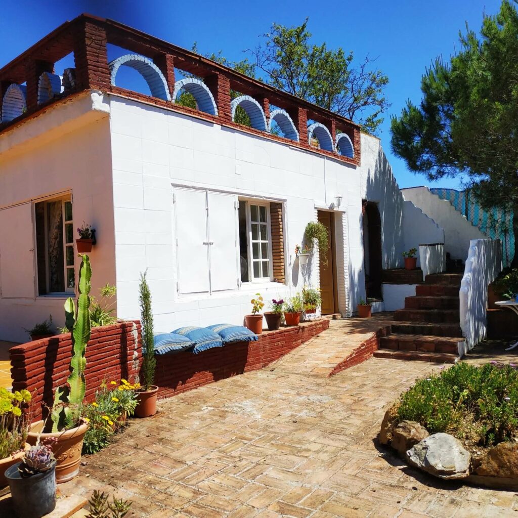
POLYGON ((407 460, 441 479, 463 479, 469 476, 471 455, 461 441, 448 434, 433 434, 407 452, 407 460))

